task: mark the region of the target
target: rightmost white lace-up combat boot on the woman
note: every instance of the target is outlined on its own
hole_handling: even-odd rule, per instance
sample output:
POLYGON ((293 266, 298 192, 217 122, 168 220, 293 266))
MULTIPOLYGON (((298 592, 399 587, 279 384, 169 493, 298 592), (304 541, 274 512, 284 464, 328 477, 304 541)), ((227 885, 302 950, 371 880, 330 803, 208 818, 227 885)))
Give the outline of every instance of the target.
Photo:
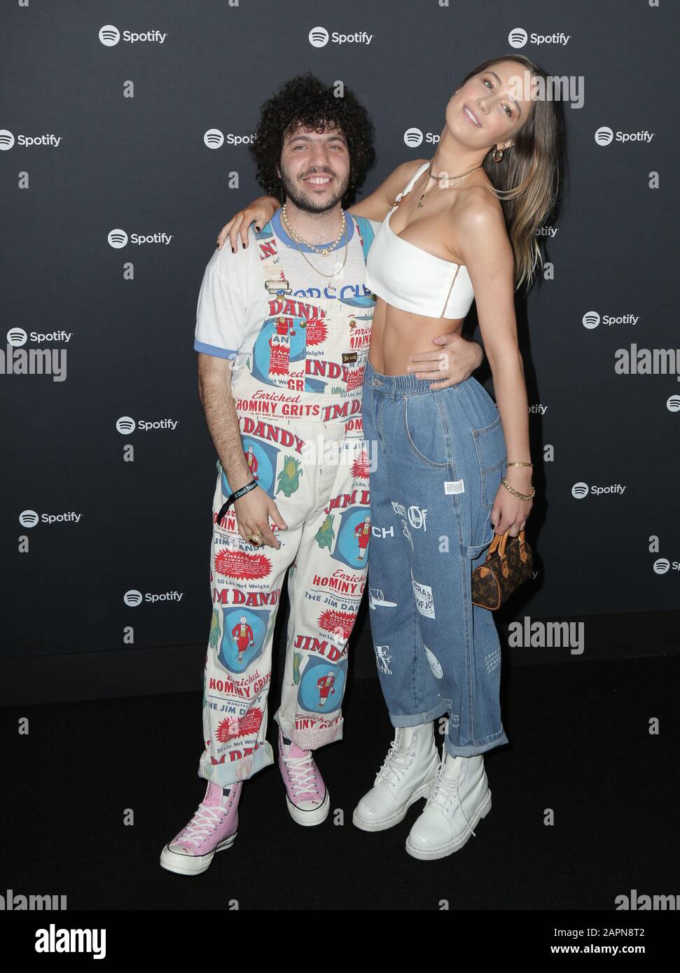
POLYGON ((445 746, 435 786, 412 826, 406 849, 424 861, 445 858, 475 835, 473 828, 490 810, 483 755, 451 757, 445 746))

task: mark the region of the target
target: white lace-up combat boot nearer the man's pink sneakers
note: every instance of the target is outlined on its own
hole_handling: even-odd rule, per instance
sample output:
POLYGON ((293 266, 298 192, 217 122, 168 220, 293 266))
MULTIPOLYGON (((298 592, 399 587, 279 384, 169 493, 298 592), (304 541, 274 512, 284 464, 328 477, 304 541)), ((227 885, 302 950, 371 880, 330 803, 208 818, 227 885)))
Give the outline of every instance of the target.
POLYGON ((435 782, 439 753, 432 723, 399 727, 373 788, 354 809, 352 822, 362 831, 384 831, 399 824, 435 782))

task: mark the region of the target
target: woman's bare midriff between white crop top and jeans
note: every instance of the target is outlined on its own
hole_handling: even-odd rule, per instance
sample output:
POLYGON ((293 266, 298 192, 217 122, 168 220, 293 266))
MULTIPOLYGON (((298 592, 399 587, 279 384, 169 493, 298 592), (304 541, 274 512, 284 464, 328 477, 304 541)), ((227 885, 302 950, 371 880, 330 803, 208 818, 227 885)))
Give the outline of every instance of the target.
MULTIPOLYGON (((433 342, 438 335, 459 335, 465 318, 425 317, 376 300, 371 325, 369 362, 382 375, 406 375, 419 351, 444 351, 433 342)), ((415 369, 417 371, 417 368, 415 369)))

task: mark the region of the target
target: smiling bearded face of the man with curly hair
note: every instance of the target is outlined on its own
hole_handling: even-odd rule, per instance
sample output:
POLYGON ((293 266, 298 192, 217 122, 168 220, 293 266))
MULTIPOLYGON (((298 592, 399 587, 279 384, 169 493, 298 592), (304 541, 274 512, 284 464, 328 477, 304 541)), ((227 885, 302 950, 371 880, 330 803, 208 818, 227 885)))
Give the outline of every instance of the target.
POLYGON ((286 135, 278 173, 286 198, 308 213, 338 205, 349 184, 349 150, 340 128, 322 134, 298 126, 286 135))

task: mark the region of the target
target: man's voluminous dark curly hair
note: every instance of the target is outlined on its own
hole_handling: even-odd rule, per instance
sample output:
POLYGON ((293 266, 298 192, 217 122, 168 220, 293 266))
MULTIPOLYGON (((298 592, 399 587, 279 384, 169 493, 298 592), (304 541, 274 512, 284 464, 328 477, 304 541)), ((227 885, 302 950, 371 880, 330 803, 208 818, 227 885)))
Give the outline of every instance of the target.
POLYGON ((338 97, 310 71, 296 75, 276 91, 260 109, 255 140, 248 149, 257 163, 257 180, 268 194, 284 201, 276 166, 281 159, 283 138, 300 124, 322 132, 326 126, 338 127, 347 139, 349 184, 343 205, 351 205, 376 161, 375 129, 369 114, 353 91, 344 88, 338 97))

